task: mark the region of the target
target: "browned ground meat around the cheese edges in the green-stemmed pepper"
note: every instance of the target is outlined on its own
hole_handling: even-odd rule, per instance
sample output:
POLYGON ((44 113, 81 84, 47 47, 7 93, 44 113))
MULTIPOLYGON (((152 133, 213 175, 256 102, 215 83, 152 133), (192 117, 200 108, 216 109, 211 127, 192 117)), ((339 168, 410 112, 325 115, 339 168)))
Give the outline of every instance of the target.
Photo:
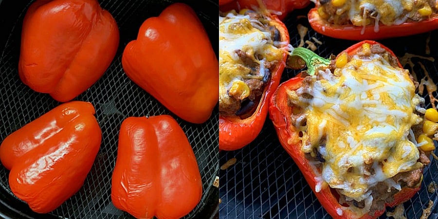
MULTIPOLYGON (((394 57, 389 52, 387 52, 385 49, 383 49, 378 44, 371 45, 369 51, 362 51, 362 50, 359 51, 357 53, 357 55, 359 57, 369 56, 370 53, 382 55, 383 57, 385 57, 386 60, 388 60, 390 65, 392 65, 393 67, 399 67, 397 58, 394 57)), ((336 68, 335 60, 332 59, 330 65, 329 65, 329 70, 331 71, 331 73, 334 72, 335 68, 336 68)), ((316 77, 316 78, 318 80, 318 77, 316 77)), ((417 89, 418 82, 415 82, 412 77, 410 77, 410 78, 414 82, 414 85, 417 89)), ((311 76, 306 76, 303 79, 302 83, 303 83, 302 84, 303 88, 311 89, 313 86, 312 85, 313 81, 311 79, 311 76)), ((298 96, 298 94, 296 92, 289 93, 288 104, 289 104, 289 106, 292 106, 293 108, 295 108, 297 110, 296 113, 293 113, 291 115, 291 118, 292 118, 291 121, 292 121, 292 125, 297 127, 297 128, 300 128, 300 127, 302 128, 302 127, 306 126, 306 117, 305 117, 305 114, 302 110, 302 108, 305 106, 303 106, 302 103, 299 103, 299 100, 303 99, 303 98, 311 99, 313 97, 307 93, 301 93, 300 96, 298 96)), ((420 101, 418 107, 424 108, 424 100, 423 99, 422 99, 422 101, 420 101)), ((415 111, 415 113, 417 113, 419 115, 420 114, 423 115, 422 113, 420 113, 418 111, 415 111)), ((421 127, 422 127, 422 123, 411 127, 411 129, 415 135, 415 138, 417 138, 419 133, 421 133, 421 127)), ((323 137, 319 143, 319 146, 313 147, 313 149, 310 152, 305 153, 305 158, 307 160, 309 160, 309 162, 314 164, 318 169, 321 169, 322 164, 324 164, 326 162, 324 156, 320 152, 322 149, 324 149, 324 147, 326 147, 325 139, 326 138, 323 137)), ((310 142, 306 142, 305 145, 310 145, 310 142)), ((429 160, 430 152, 425 153, 424 151, 419 149, 419 153, 420 153, 420 158, 418 159, 417 162, 420 162, 423 165, 420 165, 420 166, 418 166, 418 168, 407 171, 407 172, 398 173, 394 177, 392 177, 388 180, 391 182, 393 181, 393 183, 400 185, 400 188, 418 187, 419 184, 421 183, 421 180, 422 180, 423 166, 428 165, 430 163, 430 160, 429 160)), ((375 170, 373 169, 373 162, 374 162, 373 160, 370 160, 370 161, 365 162, 361 166, 361 171, 364 173, 365 178, 375 174, 375 170)), ((353 167, 350 167, 347 171, 352 172, 352 171, 354 171, 354 169, 353 169, 353 167)), ((374 213, 377 211, 384 210, 385 203, 393 202, 394 195, 399 192, 399 190, 394 187, 393 183, 388 183, 388 180, 383 181, 383 182, 379 182, 370 188, 369 191, 371 191, 371 196, 373 198, 372 204, 369 207, 369 211, 368 211, 368 214, 370 216, 374 216, 374 213)), ((354 207, 360 208, 360 209, 365 208, 365 200, 363 200, 363 201, 356 201, 356 200, 351 200, 351 199, 349 200, 346 196, 344 196, 343 194, 338 192, 337 189, 332 189, 332 191, 336 191, 338 193, 338 195, 339 195, 338 201, 341 205, 354 206, 354 207)))

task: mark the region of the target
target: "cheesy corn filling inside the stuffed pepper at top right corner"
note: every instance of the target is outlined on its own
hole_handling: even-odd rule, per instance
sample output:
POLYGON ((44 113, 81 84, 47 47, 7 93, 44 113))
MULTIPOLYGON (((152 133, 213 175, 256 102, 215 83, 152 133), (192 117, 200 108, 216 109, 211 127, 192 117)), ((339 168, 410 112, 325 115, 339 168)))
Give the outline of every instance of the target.
MULTIPOLYGON (((318 14, 336 25, 399 25, 437 14, 437 0, 319 0, 318 14)), ((365 31, 365 29, 363 29, 365 31)))

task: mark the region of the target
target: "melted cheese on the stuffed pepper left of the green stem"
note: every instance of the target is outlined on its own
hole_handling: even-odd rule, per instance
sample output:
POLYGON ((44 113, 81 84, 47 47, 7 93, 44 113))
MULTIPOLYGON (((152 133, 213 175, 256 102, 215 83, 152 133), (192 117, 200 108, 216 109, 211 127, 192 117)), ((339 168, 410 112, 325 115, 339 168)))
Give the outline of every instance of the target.
POLYGON ((241 50, 258 63, 259 75, 263 77, 264 62, 282 60, 287 46, 288 42, 274 42, 271 32, 255 18, 235 13, 219 16, 219 105, 230 98, 227 91, 234 81, 254 77, 236 51, 241 50), (256 58, 256 55, 262 58, 256 58))

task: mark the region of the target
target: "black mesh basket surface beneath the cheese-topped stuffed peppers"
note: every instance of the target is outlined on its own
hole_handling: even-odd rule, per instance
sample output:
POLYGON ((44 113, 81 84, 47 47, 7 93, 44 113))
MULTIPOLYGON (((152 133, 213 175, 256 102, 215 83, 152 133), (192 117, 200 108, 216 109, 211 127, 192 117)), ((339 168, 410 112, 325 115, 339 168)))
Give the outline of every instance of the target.
MULTIPOLYGON (((347 47, 358 41, 333 39, 317 34, 310 28, 306 15, 311 6, 296 10, 284 20, 293 47, 300 43, 297 24, 309 28, 304 38, 311 40, 316 37, 322 41, 317 46, 316 54, 322 57, 337 55, 347 47)), ((409 31, 409 30, 407 30, 409 31)), ((433 57, 435 61, 412 58, 414 71, 420 80, 424 73, 418 62, 422 63, 430 73, 435 83, 438 83, 438 31, 411 37, 398 37, 385 40, 376 40, 391 49, 397 56, 405 53, 433 57), (426 39, 430 37, 430 55, 425 54, 426 39)), ((307 44, 306 44, 307 46, 307 44)), ((409 69, 409 66, 405 66, 409 69)), ((285 70, 282 80, 292 78, 300 71, 285 70)), ((437 97, 437 93, 434 93, 437 97)), ((426 92, 427 107, 430 107, 429 97, 426 92)), ((219 218, 220 219, 329 219, 329 214, 324 210, 313 194, 310 186, 292 158, 280 145, 273 124, 267 118, 265 125, 254 142, 236 151, 219 152, 219 164, 236 158, 237 163, 226 170, 219 170, 219 218)), ((431 219, 438 217, 437 192, 429 193, 426 187, 432 181, 438 182, 438 162, 431 157, 431 164, 424 169, 424 179, 420 191, 409 201, 404 203, 405 217, 407 219, 420 219, 429 200, 434 201, 431 219)), ((386 208, 392 211, 392 208, 386 208)), ((385 214, 380 219, 387 218, 385 214)))

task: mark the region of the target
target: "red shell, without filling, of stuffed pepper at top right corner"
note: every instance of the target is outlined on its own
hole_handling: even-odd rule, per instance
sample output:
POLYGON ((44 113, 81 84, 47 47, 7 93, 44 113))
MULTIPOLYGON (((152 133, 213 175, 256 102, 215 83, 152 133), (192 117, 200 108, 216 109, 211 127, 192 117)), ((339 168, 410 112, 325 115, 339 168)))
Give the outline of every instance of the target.
POLYGON ((406 21, 398 25, 379 24, 378 31, 375 32, 374 25, 363 26, 335 25, 321 18, 318 13, 319 1, 315 8, 310 9, 308 18, 310 26, 316 32, 339 39, 365 40, 365 39, 384 39, 391 37, 403 37, 429 32, 438 28, 438 16, 414 22, 406 21), (363 32, 363 33, 362 33, 363 32))

